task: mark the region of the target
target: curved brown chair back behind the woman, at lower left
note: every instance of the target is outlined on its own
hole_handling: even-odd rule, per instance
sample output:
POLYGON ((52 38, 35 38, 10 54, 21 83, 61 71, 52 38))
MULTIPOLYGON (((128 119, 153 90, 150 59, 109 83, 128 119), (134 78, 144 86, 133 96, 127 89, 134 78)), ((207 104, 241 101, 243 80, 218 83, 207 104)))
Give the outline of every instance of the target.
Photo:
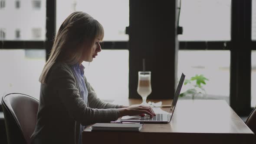
POLYGON ((30 144, 39 101, 29 95, 11 93, 2 97, 2 107, 8 144, 30 144))

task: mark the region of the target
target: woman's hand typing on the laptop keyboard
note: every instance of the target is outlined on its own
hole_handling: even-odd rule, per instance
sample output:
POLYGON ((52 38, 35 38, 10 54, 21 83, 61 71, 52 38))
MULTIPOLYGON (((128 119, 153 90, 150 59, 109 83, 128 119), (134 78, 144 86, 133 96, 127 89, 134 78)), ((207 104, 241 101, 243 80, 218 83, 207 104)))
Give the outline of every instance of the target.
POLYGON ((144 116, 144 114, 150 115, 150 117, 152 118, 155 113, 152 110, 151 107, 149 106, 144 106, 144 105, 139 105, 139 106, 131 106, 131 107, 127 107, 127 108, 118 108, 119 111, 119 115, 118 117, 122 117, 125 115, 140 115, 140 116, 144 116))

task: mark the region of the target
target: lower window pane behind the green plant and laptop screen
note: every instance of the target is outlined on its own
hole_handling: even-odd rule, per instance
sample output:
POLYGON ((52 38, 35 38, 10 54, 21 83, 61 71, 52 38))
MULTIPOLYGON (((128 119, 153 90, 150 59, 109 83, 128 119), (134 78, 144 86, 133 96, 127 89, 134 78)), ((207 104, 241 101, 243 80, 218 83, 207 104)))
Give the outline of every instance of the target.
MULTIPOLYGON (((203 89, 194 87, 195 81, 184 85, 182 92, 188 89, 195 89, 197 93, 206 95, 195 95, 195 99, 223 99, 229 103, 230 95, 230 51, 221 50, 180 50, 178 52, 178 76, 181 73, 186 75, 186 79, 191 79, 196 75, 203 75, 206 85, 203 89)), ((192 95, 185 95, 184 98, 191 99, 192 95)))

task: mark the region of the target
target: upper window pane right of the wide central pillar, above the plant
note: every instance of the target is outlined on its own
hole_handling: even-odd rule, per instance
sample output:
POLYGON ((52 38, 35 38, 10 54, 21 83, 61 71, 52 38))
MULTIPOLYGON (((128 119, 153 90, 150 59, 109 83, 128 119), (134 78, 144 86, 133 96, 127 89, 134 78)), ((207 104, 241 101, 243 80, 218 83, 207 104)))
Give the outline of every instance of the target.
POLYGON ((178 36, 186 41, 230 40, 231 0, 181 0, 178 36))

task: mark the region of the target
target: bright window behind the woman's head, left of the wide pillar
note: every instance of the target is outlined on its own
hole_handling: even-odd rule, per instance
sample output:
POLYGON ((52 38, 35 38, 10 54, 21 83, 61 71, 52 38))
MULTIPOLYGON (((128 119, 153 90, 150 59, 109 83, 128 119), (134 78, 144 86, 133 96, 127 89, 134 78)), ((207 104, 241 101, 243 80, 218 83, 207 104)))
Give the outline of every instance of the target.
MULTIPOLYGON (((105 31, 102 52, 90 64, 83 62, 86 78, 99 98, 128 98, 129 51, 112 50, 108 41, 128 41, 129 0, 56 0, 56 32, 74 11, 89 13, 105 31)), ((123 48, 115 45, 115 49, 123 48)))

